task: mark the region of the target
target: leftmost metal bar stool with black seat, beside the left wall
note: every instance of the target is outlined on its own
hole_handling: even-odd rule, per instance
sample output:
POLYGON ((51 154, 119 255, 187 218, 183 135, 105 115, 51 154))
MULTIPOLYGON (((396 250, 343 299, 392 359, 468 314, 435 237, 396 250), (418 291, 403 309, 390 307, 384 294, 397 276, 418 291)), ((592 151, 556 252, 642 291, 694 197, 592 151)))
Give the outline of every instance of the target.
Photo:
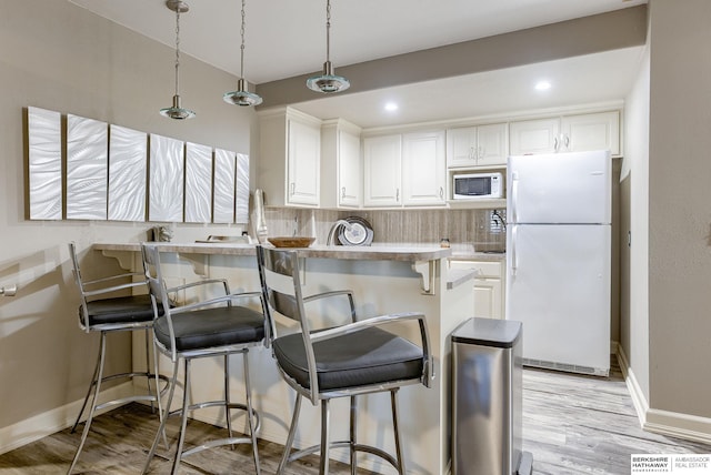
MULTIPOLYGON (((161 391, 160 381, 162 380, 166 383, 163 386, 167 386, 168 382, 168 378, 166 376, 161 376, 158 374, 158 360, 156 357, 153 358, 152 372, 149 370, 151 367, 151 364, 149 363, 151 354, 151 352, 149 351, 149 343, 152 342, 152 335, 150 335, 150 333, 153 325, 154 314, 150 295, 143 294, 98 299, 112 292, 124 291, 129 289, 142 287, 143 290, 148 291, 146 275, 143 275, 142 273, 123 273, 103 279, 84 280, 79 267, 77 245, 73 242, 69 243, 69 255, 71 256, 71 262, 73 264, 72 273, 74 274, 74 281, 77 283, 77 289, 79 290, 80 296, 79 327, 87 333, 99 332, 101 335, 101 340, 99 343, 99 354, 97 356, 93 376, 91 377, 91 384, 89 384, 89 390, 87 391, 87 396, 84 397, 81 410, 77 415, 77 421, 71 427, 71 433, 73 433, 77 429, 79 422, 81 421, 81 416, 83 415, 84 410, 87 408, 89 398, 91 398, 89 415, 87 417, 87 421, 84 422, 84 428, 81 433, 81 439, 79 442, 79 446, 77 447, 77 452, 74 453, 74 458, 72 459, 67 473, 71 473, 77 465, 77 462, 79 461, 79 455, 81 454, 84 443, 87 442, 91 422, 93 421, 93 416, 96 415, 97 411, 101 411, 103 408, 119 404, 143 401, 149 402, 151 404, 151 408, 153 408, 153 404, 157 403, 159 406, 160 415, 160 397, 158 397, 157 394, 161 391), (136 277, 140 277, 140 281, 136 281, 136 277), (146 371, 104 375, 103 371, 107 355, 107 335, 112 332, 133 332, 137 330, 142 330, 146 333, 146 371), (112 380, 128 380, 134 377, 146 377, 148 386, 147 394, 136 394, 101 404, 98 403, 102 383, 112 380), (156 390, 151 388, 151 381, 153 382, 156 390)), ((153 356, 156 356, 154 351, 152 352, 152 354, 153 356)), ((163 387, 163 390, 164 388, 166 387, 163 387)))

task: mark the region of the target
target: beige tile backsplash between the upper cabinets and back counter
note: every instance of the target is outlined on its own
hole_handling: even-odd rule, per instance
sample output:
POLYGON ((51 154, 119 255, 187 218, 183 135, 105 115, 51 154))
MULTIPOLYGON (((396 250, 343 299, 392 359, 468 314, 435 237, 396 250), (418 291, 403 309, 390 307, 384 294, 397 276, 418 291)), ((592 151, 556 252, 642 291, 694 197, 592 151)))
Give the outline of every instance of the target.
MULTIPOLYGON (((339 219, 359 216, 373 228, 373 243, 439 243, 477 251, 505 249, 505 209, 497 210, 306 210, 268 208, 270 236, 316 235, 324 244, 339 219)), ((250 232, 250 234, 253 234, 250 232)))

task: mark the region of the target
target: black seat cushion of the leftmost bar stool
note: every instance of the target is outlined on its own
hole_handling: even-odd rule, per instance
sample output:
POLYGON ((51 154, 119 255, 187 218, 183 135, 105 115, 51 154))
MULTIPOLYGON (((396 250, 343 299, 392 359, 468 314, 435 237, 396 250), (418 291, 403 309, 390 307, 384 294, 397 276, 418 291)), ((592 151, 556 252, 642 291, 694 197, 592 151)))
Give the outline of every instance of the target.
MULTIPOLYGON (((130 295, 87 302, 89 325, 110 323, 139 323, 153 320, 150 295, 130 295)), ((83 322, 81 306, 79 319, 83 322)))

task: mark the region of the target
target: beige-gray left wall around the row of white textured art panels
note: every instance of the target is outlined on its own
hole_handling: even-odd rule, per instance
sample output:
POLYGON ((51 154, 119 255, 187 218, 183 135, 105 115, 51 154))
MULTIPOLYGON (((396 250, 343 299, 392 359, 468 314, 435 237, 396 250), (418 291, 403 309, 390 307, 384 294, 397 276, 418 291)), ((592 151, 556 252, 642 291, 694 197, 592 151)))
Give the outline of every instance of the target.
MULTIPOLYGON (((234 90, 234 77, 184 54, 181 95, 198 117, 164 119, 158 110, 171 104, 172 48, 68 1, 0 0, 0 286, 19 285, 17 296, 0 297, 1 446, 7 442, 3 434, 20 439, 37 427, 23 424, 13 434, 4 429, 83 397, 91 377, 98 338, 77 325, 67 243, 77 241, 83 251, 96 241, 138 241, 152 225, 27 221, 23 108, 72 113, 241 153, 250 153, 250 143, 256 143, 251 135, 257 119, 251 109, 222 101, 224 92, 234 90)), ((164 28, 172 31, 174 17, 167 13, 164 28)), ((179 225, 176 236, 227 231, 239 229, 179 225)), ((89 255, 86 264, 94 275, 119 270, 100 256, 89 255)), ((110 342, 119 347, 111 364, 126 367, 130 342, 110 342)))

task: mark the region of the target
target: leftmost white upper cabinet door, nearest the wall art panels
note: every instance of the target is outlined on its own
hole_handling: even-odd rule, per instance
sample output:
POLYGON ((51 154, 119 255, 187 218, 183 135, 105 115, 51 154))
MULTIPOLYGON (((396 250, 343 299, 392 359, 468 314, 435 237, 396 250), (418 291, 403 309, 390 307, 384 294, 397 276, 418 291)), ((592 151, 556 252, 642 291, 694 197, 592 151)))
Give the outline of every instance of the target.
POLYGON ((289 120, 287 203, 319 205, 321 130, 289 120))

